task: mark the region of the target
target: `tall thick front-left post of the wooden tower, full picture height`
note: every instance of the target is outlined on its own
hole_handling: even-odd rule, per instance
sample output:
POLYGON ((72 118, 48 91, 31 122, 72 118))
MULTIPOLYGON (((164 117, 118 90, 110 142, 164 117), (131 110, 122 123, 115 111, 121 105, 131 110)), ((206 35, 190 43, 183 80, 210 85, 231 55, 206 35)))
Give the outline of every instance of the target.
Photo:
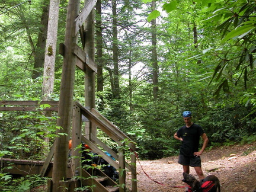
POLYGON ((75 18, 79 15, 80 1, 69 1, 66 18, 65 50, 62 67, 62 81, 60 84, 59 113, 55 139, 55 157, 53 161, 53 191, 60 191, 59 181, 66 180, 68 169, 68 142, 70 136, 72 108, 73 108, 73 87, 75 84, 76 56, 72 53, 72 46, 78 39, 75 34, 75 18), (59 133, 64 133, 59 135, 59 133))

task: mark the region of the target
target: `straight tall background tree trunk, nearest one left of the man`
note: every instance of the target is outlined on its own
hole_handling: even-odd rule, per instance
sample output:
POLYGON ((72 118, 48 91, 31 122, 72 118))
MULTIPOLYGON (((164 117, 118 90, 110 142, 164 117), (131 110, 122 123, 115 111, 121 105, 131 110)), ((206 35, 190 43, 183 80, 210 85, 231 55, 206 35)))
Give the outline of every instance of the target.
MULTIPOLYGON (((156 8, 156 2, 151 2, 152 11, 156 8)), ((153 100, 156 101, 158 98, 158 60, 156 52, 156 20, 151 21, 151 44, 152 44, 152 80, 153 80, 153 100)))

